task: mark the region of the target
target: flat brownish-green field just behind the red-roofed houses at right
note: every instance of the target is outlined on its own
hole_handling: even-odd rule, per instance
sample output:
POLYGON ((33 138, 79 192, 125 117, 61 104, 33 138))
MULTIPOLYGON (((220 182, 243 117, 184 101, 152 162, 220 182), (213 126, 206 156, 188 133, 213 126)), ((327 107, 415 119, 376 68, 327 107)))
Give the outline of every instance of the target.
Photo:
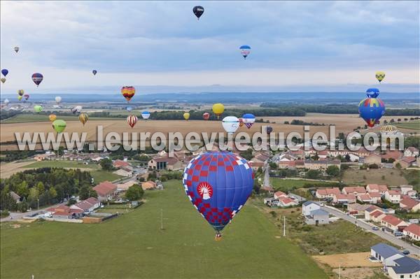
POLYGON ((385 184, 388 186, 398 186, 407 184, 404 177, 404 171, 398 169, 347 169, 344 171, 342 178, 346 184, 362 184, 368 183, 385 184))

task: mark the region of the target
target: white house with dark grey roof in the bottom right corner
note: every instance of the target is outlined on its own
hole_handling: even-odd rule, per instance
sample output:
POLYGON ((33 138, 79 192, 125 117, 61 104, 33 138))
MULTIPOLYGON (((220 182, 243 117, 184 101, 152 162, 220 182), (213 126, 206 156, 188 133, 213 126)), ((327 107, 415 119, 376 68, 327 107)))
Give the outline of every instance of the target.
POLYGON ((388 276, 392 279, 420 278, 420 260, 412 257, 398 257, 392 266, 387 266, 388 276))

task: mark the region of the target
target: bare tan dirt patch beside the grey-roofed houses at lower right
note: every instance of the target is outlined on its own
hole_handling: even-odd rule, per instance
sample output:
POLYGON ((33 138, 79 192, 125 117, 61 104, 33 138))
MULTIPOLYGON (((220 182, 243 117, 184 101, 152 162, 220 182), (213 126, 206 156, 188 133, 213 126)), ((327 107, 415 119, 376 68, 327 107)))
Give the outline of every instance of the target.
POLYGON ((374 267, 381 266, 380 263, 370 262, 370 252, 335 254, 326 256, 312 256, 317 262, 328 264, 332 268, 342 267, 374 267))

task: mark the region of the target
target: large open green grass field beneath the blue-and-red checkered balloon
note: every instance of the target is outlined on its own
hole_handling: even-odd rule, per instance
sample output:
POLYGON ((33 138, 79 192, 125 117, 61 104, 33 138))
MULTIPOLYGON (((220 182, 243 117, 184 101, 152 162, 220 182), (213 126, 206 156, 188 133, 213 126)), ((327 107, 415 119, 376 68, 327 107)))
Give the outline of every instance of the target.
POLYGON ((216 242, 178 180, 144 199, 102 224, 1 223, 1 278, 327 278, 251 203, 216 242))

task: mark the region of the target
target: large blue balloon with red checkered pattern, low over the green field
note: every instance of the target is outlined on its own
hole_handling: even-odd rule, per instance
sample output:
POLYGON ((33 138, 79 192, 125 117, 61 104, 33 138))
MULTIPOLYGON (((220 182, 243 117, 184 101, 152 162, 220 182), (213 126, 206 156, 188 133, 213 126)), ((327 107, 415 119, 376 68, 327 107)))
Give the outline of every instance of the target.
POLYGON ((251 195, 253 171, 246 159, 232 152, 206 152, 190 161, 184 170, 183 186, 218 240, 251 195))

